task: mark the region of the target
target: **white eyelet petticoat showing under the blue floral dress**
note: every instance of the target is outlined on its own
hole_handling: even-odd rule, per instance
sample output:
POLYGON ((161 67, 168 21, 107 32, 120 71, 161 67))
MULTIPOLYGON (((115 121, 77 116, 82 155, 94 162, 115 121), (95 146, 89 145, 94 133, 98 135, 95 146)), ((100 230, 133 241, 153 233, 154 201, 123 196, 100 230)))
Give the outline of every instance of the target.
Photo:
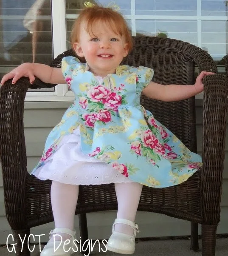
POLYGON ((111 165, 87 156, 81 150, 79 127, 72 134, 66 135, 61 147, 37 168, 33 175, 40 180, 72 185, 100 185, 132 182, 111 165))

